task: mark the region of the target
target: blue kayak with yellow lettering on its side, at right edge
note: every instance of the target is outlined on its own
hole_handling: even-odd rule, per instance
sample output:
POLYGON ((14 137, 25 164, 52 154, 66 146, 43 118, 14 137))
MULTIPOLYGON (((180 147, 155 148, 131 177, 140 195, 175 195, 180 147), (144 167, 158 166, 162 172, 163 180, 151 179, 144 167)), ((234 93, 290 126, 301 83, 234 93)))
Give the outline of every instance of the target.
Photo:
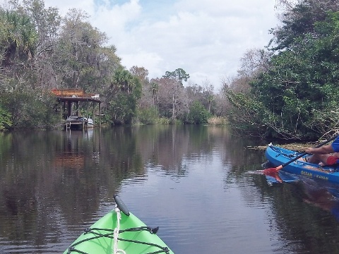
MULTIPOLYGON (((268 162, 273 164, 274 167, 278 167, 290 162, 298 155, 301 155, 301 153, 274 145, 268 145, 265 152, 266 159, 268 159, 268 162)), ((304 157, 297 159, 295 162, 287 164, 281 170, 290 172, 292 174, 307 176, 312 179, 321 179, 339 183, 339 165, 320 167, 318 164, 306 162, 304 157)))

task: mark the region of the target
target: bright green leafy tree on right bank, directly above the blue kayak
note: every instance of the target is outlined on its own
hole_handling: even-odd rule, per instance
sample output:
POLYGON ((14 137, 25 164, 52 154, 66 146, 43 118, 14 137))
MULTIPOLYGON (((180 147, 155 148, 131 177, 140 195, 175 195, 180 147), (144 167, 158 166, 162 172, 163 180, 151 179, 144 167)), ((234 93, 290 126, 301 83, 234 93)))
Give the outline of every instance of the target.
POLYGON ((314 32, 274 56, 270 71, 253 83, 253 93, 281 116, 291 137, 309 133, 305 135, 312 138, 334 127, 331 116, 319 121, 317 115, 331 111, 339 102, 338 21, 338 13, 328 13, 325 21, 314 24, 314 32))

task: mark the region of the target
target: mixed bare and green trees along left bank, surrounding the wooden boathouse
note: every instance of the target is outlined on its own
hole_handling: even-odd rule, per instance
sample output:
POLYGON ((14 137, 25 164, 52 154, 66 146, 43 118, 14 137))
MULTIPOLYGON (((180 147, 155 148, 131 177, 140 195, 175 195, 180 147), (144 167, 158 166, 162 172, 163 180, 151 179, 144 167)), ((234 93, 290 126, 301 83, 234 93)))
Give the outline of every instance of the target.
MULTIPOLYGON (((126 70, 116 47, 107 45, 105 32, 88 18, 78 9, 62 17, 42 0, 0 7, 0 130, 58 127, 67 113, 52 97, 53 88, 100 95, 102 121, 108 124, 206 122, 206 111, 215 109, 208 85, 184 87, 189 74, 182 68, 153 80, 143 67, 126 70), (203 114, 189 114, 197 109, 193 102, 203 114)), ((78 112, 87 107, 80 102, 78 112)))

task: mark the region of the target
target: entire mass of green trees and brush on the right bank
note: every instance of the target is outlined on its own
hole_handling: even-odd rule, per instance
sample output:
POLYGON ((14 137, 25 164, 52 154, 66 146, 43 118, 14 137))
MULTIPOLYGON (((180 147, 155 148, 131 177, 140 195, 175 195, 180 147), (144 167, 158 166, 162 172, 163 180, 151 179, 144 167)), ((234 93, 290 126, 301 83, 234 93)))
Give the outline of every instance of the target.
POLYGON ((248 92, 224 86, 230 121, 249 135, 313 139, 337 128, 339 13, 328 1, 299 1, 275 28, 268 66, 248 92))

